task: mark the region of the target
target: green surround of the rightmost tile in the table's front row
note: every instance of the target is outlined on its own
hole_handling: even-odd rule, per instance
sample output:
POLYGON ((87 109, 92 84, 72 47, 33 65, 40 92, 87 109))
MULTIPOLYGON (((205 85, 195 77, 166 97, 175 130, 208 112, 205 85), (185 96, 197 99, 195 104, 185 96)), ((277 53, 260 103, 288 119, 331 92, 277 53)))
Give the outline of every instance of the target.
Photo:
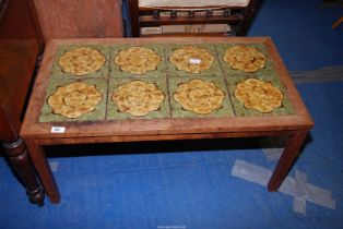
MULTIPOLYGON (((277 80, 277 79, 272 79, 270 80, 272 82, 272 84, 276 87, 279 87, 283 94, 284 94, 284 99, 283 99, 283 106, 280 108, 275 108, 272 112, 270 113, 262 113, 259 112, 257 110, 253 109, 247 109, 244 107, 243 103, 240 103, 238 99, 235 98, 234 96, 234 91, 236 88, 236 84, 238 84, 239 82, 243 82, 245 80, 247 80, 248 77, 245 76, 226 76, 226 82, 228 85, 228 91, 229 91, 229 95, 233 101, 233 106, 235 109, 235 114, 237 117, 250 117, 250 116, 285 116, 285 114, 292 114, 294 113, 294 109, 289 103, 289 100, 286 97, 285 94, 285 87, 282 85, 282 83, 277 80)), ((262 77, 256 77, 258 80, 264 80, 262 77)))

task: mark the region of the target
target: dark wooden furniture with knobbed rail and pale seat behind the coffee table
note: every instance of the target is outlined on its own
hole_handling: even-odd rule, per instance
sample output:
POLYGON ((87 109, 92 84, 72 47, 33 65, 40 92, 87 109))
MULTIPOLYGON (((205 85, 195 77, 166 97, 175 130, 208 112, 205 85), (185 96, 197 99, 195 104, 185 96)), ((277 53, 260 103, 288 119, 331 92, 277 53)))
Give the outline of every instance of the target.
POLYGON ((128 1, 133 37, 246 36, 258 7, 258 0, 128 1))

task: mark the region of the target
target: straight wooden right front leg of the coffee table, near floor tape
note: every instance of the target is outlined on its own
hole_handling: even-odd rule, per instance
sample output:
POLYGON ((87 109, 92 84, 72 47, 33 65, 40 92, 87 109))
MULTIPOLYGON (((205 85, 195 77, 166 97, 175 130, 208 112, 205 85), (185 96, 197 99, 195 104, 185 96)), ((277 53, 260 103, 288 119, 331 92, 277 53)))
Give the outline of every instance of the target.
POLYGON ((300 130, 292 135, 279 159, 276 168, 268 183, 268 190, 270 192, 276 192, 287 176, 295 158, 299 154, 301 144, 308 133, 308 130, 300 130))

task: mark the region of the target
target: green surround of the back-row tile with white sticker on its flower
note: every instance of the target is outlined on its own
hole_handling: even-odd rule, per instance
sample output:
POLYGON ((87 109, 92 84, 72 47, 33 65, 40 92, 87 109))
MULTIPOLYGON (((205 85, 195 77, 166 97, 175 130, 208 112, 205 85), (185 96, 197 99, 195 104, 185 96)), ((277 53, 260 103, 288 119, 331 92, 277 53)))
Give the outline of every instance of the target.
POLYGON ((167 73, 170 76, 185 76, 185 77, 194 77, 194 76, 218 76, 223 75, 222 70, 218 64, 217 56, 216 56, 216 49, 215 46, 212 44, 202 44, 202 45, 192 45, 198 48, 204 48, 208 50, 209 53, 211 53, 214 57, 214 61, 212 63, 211 69, 204 70, 201 73, 189 73, 182 70, 177 70, 176 67, 169 61, 168 57, 172 56, 173 51, 175 49, 182 48, 185 44, 173 44, 173 45, 166 45, 165 46, 165 55, 166 55, 166 62, 167 62, 167 73))

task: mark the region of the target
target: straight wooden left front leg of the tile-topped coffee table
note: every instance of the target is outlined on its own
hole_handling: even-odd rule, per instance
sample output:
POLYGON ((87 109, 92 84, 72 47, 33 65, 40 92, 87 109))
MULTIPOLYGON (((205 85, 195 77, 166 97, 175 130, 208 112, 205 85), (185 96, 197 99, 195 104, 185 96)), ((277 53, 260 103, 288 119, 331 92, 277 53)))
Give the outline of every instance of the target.
POLYGON ((26 140, 25 142, 47 196, 51 203, 59 203, 60 193, 43 147, 35 140, 26 140))

